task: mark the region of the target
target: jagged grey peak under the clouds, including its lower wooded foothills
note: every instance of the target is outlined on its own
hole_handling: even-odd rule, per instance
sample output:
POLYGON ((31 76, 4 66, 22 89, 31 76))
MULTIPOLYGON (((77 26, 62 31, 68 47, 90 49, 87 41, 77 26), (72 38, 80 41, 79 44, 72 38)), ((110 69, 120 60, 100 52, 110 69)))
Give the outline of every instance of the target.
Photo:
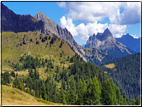
POLYGON ((135 53, 124 44, 118 42, 108 28, 103 33, 90 36, 84 50, 86 59, 97 65, 114 62, 118 58, 135 53))

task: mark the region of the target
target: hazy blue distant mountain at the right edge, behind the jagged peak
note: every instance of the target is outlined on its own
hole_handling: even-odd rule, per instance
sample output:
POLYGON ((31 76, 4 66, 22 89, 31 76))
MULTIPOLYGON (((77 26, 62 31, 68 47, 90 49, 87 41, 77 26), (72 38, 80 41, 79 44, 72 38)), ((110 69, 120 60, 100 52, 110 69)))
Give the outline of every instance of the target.
POLYGON ((115 38, 120 43, 126 45, 129 49, 137 52, 140 52, 140 39, 134 38, 130 34, 123 35, 121 38, 115 38))

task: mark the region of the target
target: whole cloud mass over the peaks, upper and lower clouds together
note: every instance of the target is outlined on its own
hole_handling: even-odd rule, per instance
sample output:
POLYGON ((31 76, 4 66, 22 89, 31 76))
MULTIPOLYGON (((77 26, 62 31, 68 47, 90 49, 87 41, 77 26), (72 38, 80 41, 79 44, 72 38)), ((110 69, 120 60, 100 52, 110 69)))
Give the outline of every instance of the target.
POLYGON ((124 34, 128 24, 140 22, 140 2, 58 2, 57 5, 67 10, 60 18, 61 26, 82 40, 106 28, 118 38, 124 34), (109 22, 101 23, 105 18, 109 22), (74 21, 80 24, 75 25, 74 21))

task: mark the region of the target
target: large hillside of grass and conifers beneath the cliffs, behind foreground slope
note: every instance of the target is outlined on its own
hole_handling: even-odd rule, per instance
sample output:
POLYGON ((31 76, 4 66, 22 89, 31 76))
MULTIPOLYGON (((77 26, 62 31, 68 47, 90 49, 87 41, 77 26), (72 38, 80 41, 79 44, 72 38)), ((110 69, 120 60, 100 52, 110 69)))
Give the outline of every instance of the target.
POLYGON ((3 85, 55 103, 128 104, 111 78, 55 35, 3 32, 2 36, 3 85))

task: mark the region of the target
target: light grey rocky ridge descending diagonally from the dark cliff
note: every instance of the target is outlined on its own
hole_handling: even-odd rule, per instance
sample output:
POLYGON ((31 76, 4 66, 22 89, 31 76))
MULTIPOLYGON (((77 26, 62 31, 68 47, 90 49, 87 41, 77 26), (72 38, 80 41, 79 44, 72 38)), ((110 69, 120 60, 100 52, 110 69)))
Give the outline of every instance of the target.
POLYGON ((84 52, 83 48, 75 42, 71 33, 66 28, 64 28, 64 29, 61 28, 60 25, 56 24, 53 20, 51 20, 50 18, 48 18, 46 15, 44 15, 41 12, 38 12, 34 16, 34 18, 44 22, 44 31, 45 31, 44 33, 45 34, 47 32, 54 33, 59 38, 66 41, 73 48, 73 50, 86 61, 86 59, 84 57, 85 52, 84 52))

